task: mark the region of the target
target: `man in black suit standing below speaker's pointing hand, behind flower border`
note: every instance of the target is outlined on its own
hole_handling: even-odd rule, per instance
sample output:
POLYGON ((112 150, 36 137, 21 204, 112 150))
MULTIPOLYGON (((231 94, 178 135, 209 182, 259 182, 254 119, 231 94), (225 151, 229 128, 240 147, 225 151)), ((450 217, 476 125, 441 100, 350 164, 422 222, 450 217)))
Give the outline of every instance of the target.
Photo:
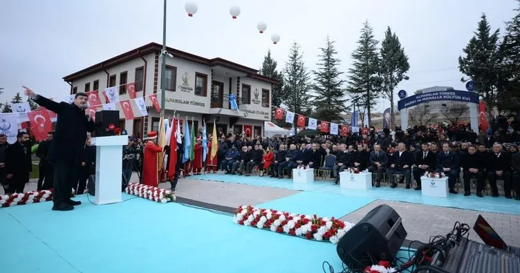
POLYGON ((30 140, 26 132, 17 134, 17 142, 10 144, 6 149, 6 183, 9 192, 6 194, 22 194, 29 182, 29 173, 32 171, 30 158, 30 140))

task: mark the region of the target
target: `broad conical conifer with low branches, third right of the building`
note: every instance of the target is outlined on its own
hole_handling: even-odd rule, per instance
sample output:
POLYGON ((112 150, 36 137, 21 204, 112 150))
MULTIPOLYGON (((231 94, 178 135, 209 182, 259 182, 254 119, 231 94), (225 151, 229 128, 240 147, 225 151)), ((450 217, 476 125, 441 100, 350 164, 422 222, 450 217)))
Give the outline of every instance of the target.
POLYGON ((343 89, 344 80, 340 79, 343 74, 339 69, 341 61, 336 58, 337 51, 330 37, 327 36, 325 47, 319 49, 322 54, 319 55, 318 69, 313 71, 314 115, 319 120, 340 122, 340 114, 346 110, 347 102, 343 89))

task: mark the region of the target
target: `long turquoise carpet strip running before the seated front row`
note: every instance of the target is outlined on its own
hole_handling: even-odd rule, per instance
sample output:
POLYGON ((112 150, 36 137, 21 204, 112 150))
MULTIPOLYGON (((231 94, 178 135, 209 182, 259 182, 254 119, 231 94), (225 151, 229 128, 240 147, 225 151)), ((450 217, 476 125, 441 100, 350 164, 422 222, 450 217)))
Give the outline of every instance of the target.
POLYGON ((499 212, 503 214, 520 214, 520 202, 506 199, 503 196, 492 198, 484 196, 479 198, 475 194, 472 196, 463 196, 449 194, 448 198, 437 198, 422 196, 420 191, 414 189, 405 189, 398 187, 391 189, 387 186, 373 188, 370 191, 360 191, 353 189, 340 189, 340 185, 328 180, 317 180, 310 184, 295 184, 291 179, 277 179, 258 176, 232 176, 229 174, 215 173, 205 174, 203 176, 192 176, 192 179, 219 181, 236 184, 254 185, 262 187, 274 187, 279 189, 295 189, 299 191, 312 191, 323 194, 341 194, 342 196, 372 198, 379 200, 400 201, 407 203, 416 203, 423 205, 434 205, 440 207, 454 207, 458 209, 472 209, 476 211, 499 212))

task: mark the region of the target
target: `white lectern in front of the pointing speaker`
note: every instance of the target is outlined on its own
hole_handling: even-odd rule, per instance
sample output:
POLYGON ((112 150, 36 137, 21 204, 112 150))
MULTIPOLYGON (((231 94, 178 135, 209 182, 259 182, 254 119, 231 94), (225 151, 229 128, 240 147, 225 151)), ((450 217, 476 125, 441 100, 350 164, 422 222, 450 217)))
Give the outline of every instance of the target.
POLYGON ((128 135, 92 138, 95 145, 95 205, 119 203, 122 187, 123 145, 128 135))

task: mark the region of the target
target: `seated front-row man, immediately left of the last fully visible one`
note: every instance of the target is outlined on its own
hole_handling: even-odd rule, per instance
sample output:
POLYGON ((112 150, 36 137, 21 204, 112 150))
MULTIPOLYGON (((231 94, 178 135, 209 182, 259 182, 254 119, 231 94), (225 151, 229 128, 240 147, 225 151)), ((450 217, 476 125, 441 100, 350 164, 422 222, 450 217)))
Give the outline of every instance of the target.
POLYGON ((484 189, 484 171, 485 158, 476 152, 475 145, 471 144, 467 147, 467 153, 461 157, 461 167, 463 169, 464 178, 464 196, 470 196, 470 181, 476 179, 476 196, 484 197, 482 190, 484 189))

